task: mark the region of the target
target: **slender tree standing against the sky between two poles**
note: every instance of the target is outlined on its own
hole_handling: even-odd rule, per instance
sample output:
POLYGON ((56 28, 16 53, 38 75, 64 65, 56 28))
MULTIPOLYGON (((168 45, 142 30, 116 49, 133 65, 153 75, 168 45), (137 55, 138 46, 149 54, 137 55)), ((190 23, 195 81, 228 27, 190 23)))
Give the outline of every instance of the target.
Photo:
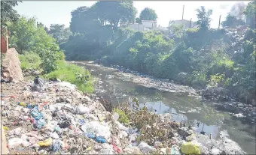
POLYGON ((197 25, 200 25, 200 29, 202 30, 208 30, 210 28, 210 22, 211 18, 210 16, 212 15, 212 10, 206 11, 206 8, 201 6, 200 8, 197 9, 197 25))

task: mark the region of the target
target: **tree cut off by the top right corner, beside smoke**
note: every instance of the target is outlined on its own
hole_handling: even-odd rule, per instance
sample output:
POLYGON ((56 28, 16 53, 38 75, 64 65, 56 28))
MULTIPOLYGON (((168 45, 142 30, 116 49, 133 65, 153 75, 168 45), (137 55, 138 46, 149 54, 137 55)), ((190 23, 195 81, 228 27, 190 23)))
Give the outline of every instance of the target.
POLYGON ((256 1, 251 1, 248 3, 244 13, 246 16, 246 23, 250 25, 251 28, 256 28, 256 1))

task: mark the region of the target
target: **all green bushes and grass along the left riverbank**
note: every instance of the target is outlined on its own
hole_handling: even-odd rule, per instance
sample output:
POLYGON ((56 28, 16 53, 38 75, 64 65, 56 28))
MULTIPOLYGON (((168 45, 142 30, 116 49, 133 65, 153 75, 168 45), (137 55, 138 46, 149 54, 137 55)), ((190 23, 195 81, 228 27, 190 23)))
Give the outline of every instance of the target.
POLYGON ((90 72, 65 61, 64 52, 58 44, 65 37, 56 40, 53 35, 47 34, 44 25, 36 23, 35 18, 17 16, 14 21, 6 20, 5 25, 11 32, 10 46, 20 54, 23 72, 38 70, 45 79, 57 78, 77 85, 80 91, 93 92, 90 72))

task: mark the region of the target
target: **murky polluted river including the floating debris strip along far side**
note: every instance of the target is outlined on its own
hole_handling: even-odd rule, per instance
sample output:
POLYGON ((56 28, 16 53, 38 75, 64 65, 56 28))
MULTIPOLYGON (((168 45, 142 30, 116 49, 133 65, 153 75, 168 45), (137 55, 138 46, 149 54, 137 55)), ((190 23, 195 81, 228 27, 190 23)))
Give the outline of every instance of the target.
POLYGON ((193 88, 139 73, 123 73, 88 61, 76 61, 75 64, 91 70, 98 79, 96 94, 110 99, 114 105, 137 97, 139 103, 145 103, 157 113, 169 112, 174 121, 191 124, 199 133, 212 134, 213 139, 218 139, 218 133, 226 130, 230 139, 237 142, 247 154, 256 154, 255 124, 239 121, 229 112, 217 111, 214 103, 203 101, 193 88))

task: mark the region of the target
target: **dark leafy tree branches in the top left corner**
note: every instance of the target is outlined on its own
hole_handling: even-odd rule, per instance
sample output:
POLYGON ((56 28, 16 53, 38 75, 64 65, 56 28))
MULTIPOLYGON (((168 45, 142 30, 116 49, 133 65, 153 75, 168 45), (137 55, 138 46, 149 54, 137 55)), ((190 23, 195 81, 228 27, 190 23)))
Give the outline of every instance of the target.
POLYGON ((22 1, 1 1, 1 26, 6 26, 6 22, 15 22, 19 19, 17 10, 14 10, 18 2, 22 1))

